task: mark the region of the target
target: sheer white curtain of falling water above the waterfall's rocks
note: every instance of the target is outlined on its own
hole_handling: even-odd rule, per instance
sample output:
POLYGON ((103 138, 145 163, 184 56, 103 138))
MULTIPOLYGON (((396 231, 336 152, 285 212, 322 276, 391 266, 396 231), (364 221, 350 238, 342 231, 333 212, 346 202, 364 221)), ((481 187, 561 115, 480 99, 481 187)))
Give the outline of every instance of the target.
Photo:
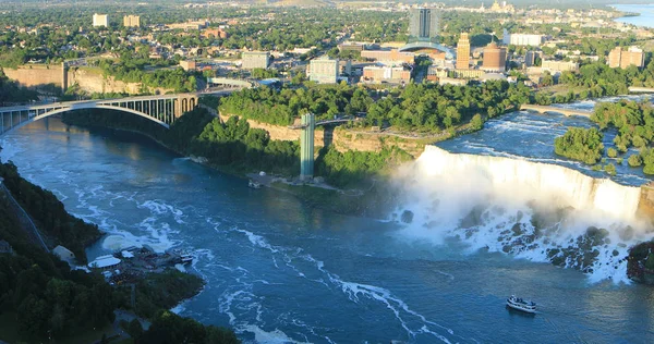
MULTIPOLYGON (((450 153, 427 146, 417 159, 426 176, 483 191, 506 193, 505 197, 545 199, 559 207, 596 210, 621 220, 631 220, 640 200, 640 187, 594 179, 556 164, 493 156, 450 153), (468 184, 468 185, 461 185, 468 184)), ((501 195, 500 195, 501 196, 501 195)))

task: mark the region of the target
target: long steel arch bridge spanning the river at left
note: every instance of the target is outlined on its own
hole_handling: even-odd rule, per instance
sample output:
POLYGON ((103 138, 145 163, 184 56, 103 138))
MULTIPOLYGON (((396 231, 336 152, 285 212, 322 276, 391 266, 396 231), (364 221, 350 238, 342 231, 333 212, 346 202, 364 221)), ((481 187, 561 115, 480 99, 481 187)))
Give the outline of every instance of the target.
POLYGON ((179 94, 0 108, 0 135, 53 114, 83 109, 134 113, 168 128, 177 119, 195 109, 196 106, 197 95, 179 94))

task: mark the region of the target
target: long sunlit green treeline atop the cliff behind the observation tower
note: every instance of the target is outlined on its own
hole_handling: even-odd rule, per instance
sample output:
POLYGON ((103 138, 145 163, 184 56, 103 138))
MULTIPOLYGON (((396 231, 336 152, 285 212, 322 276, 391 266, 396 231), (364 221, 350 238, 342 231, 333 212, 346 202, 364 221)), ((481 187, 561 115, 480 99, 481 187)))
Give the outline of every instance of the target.
POLYGON ((277 125, 289 125, 306 112, 316 114, 317 120, 367 113, 360 122, 363 125, 432 132, 464 123, 476 113, 493 118, 513 110, 531 101, 531 94, 522 83, 487 82, 469 87, 409 84, 376 98, 380 99, 375 101, 366 88, 344 84, 280 91, 259 87, 222 98, 219 110, 277 125))

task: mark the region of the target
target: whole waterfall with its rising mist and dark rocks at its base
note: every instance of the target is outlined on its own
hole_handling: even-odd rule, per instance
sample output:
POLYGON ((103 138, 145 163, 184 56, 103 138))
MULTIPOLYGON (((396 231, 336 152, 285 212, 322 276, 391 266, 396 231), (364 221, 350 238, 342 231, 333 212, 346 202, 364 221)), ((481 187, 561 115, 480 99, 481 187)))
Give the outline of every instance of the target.
POLYGON ((649 239, 635 217, 640 187, 593 179, 555 164, 450 153, 427 146, 397 179, 404 191, 404 233, 472 250, 552 261, 592 280, 627 281, 628 248, 649 239))

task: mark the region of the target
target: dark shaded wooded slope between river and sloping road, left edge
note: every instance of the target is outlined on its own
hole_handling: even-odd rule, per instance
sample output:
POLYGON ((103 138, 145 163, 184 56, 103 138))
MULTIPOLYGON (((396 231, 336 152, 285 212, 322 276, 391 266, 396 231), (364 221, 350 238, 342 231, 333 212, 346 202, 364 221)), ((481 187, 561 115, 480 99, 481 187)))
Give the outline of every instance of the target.
POLYGON ((13 163, 0 164, 0 176, 4 179, 3 184, 16 201, 46 235, 46 239, 51 242, 51 246, 63 245, 73 251, 80 261, 85 262, 84 247, 100 236, 97 225, 88 224, 68 213, 63 204, 52 193, 21 177, 13 163))

